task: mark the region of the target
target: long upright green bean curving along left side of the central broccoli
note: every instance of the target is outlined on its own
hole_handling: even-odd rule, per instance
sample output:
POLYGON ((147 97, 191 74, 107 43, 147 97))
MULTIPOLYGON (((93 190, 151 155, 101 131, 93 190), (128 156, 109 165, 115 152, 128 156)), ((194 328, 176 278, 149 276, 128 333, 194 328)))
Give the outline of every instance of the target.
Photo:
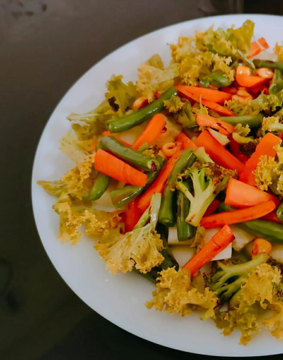
POLYGON ((161 201, 161 209, 159 221, 169 227, 175 225, 176 222, 176 191, 174 184, 178 180, 178 175, 186 167, 190 167, 196 161, 196 156, 192 153, 192 149, 184 150, 179 159, 176 161, 175 166, 167 180, 161 201))

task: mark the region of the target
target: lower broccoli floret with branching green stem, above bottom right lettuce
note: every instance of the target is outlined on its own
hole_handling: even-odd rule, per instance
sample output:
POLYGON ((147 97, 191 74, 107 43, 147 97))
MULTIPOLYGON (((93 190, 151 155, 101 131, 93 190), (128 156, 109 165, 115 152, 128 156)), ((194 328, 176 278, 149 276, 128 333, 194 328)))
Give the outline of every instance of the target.
POLYGON ((256 270, 257 266, 264 264, 268 258, 268 254, 261 253, 253 260, 238 265, 225 265, 217 261, 215 272, 205 275, 206 284, 210 291, 216 292, 221 303, 228 302, 239 288, 241 288, 243 280, 256 270))

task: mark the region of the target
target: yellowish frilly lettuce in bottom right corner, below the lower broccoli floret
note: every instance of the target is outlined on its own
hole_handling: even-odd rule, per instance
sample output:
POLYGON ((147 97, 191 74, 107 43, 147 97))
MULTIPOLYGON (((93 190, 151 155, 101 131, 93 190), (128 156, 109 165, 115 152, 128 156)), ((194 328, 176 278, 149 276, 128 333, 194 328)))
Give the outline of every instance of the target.
POLYGON ((260 324, 270 328, 271 334, 282 338, 283 303, 278 301, 275 285, 280 282, 277 267, 262 264, 246 280, 230 301, 228 311, 216 310, 217 327, 229 336, 234 329, 242 332, 240 344, 247 345, 260 324), (271 317, 267 317, 272 314, 271 317))

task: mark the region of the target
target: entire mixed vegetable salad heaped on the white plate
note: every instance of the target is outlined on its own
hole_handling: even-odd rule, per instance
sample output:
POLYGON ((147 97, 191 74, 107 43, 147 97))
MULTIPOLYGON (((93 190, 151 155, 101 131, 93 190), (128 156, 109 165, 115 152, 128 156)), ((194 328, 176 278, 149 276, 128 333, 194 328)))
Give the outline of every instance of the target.
POLYGON ((262 326, 283 338, 283 46, 271 55, 253 28, 180 36, 136 84, 113 75, 67 117, 75 167, 38 181, 62 242, 84 232, 112 274, 154 283, 148 309, 201 311, 243 345, 262 326))

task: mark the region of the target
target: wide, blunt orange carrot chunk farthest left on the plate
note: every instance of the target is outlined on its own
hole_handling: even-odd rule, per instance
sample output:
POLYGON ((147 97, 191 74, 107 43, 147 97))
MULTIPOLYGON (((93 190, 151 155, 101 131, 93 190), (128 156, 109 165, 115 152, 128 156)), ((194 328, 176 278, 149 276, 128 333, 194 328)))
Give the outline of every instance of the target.
POLYGON ((121 181, 121 183, 144 186, 147 182, 146 174, 102 149, 98 149, 95 154, 94 167, 102 174, 121 181))

